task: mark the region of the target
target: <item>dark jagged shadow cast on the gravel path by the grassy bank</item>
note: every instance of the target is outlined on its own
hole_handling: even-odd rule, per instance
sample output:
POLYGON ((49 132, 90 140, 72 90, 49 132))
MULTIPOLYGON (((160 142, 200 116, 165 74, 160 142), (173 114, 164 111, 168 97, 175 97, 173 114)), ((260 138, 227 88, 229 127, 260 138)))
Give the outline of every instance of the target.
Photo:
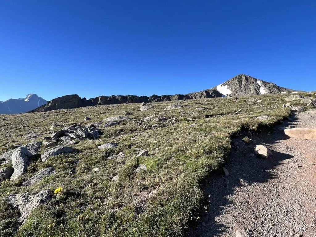
POLYGON ((244 188, 242 183, 252 185, 252 183, 263 183, 277 178, 277 173, 274 172, 275 168, 282 165, 281 161, 293 158, 289 154, 271 150, 272 155, 268 159, 259 159, 253 152, 255 145, 264 144, 269 148, 271 144, 288 139, 289 137, 284 134, 282 127, 292 125, 294 122, 295 118, 292 117, 291 121, 285 120, 284 124, 275 126, 270 133, 250 137, 253 141, 250 144, 245 144, 241 140, 242 137, 232 139, 234 145, 225 166, 229 175, 225 177, 222 172, 206 180, 204 191, 206 196, 209 196, 210 208, 201 216, 201 221, 197 227, 189 230, 188 237, 226 236, 229 233, 228 229, 232 226, 231 223, 216 222, 216 216, 222 215, 226 207, 233 205, 228 196, 233 195, 236 189, 244 188), (243 181, 240 181, 241 179, 243 181))

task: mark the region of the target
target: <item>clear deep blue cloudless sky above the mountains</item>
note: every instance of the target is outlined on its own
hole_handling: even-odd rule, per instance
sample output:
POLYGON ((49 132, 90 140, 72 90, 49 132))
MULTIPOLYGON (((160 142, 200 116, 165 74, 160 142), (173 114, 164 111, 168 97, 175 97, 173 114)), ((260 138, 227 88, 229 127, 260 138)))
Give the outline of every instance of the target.
POLYGON ((0 0, 0 100, 316 90, 316 1, 0 0))

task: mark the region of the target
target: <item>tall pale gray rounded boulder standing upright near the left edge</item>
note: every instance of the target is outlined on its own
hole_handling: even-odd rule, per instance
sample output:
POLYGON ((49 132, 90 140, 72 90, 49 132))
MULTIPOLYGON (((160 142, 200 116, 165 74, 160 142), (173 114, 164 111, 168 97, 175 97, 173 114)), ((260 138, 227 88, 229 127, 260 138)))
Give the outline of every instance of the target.
POLYGON ((14 150, 11 156, 12 166, 14 168, 14 172, 11 176, 12 180, 18 179, 26 172, 30 164, 31 156, 32 154, 25 147, 19 147, 14 150))

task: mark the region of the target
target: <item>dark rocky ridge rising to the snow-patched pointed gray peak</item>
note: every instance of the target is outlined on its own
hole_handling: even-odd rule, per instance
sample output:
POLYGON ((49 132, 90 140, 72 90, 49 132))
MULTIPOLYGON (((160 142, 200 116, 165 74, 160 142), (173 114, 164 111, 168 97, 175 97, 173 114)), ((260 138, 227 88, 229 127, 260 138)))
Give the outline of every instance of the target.
POLYGON ((111 105, 123 103, 149 103, 172 100, 192 100, 202 98, 215 98, 237 95, 250 94, 280 94, 291 93, 294 90, 279 87, 274 83, 265 82, 244 74, 237 75, 232 79, 211 89, 193 92, 189 94, 175 95, 151 95, 151 96, 136 96, 136 95, 111 95, 98 96, 91 99, 81 98, 77 94, 65 95, 48 101, 46 105, 33 109, 29 112, 45 112, 56 109, 72 109, 85 106, 95 105, 111 105))

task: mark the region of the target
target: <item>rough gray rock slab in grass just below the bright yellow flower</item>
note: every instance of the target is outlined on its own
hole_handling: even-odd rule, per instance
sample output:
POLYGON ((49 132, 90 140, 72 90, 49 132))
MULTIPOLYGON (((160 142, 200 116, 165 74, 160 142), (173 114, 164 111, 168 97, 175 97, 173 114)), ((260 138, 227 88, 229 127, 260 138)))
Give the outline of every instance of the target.
POLYGON ((31 214, 32 210, 42 203, 46 203, 52 198, 51 190, 43 190, 35 195, 28 192, 12 194, 8 197, 9 203, 20 210, 21 216, 18 219, 20 223, 24 223, 27 217, 31 214))

